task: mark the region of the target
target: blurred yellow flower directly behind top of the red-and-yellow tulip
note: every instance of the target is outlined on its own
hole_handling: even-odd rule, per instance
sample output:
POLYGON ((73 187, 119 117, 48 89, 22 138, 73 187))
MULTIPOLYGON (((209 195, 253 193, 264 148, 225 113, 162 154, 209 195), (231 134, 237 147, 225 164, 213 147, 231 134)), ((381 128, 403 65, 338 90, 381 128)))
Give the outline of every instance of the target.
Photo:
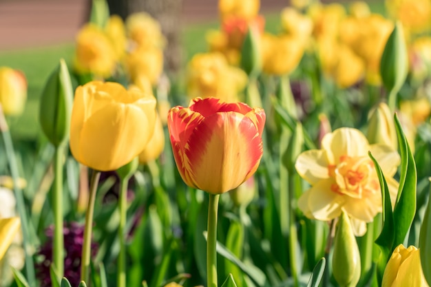
POLYGON ((187 67, 187 92, 190 98, 215 97, 227 103, 238 102, 247 76, 233 67, 220 53, 201 53, 193 56, 187 67))

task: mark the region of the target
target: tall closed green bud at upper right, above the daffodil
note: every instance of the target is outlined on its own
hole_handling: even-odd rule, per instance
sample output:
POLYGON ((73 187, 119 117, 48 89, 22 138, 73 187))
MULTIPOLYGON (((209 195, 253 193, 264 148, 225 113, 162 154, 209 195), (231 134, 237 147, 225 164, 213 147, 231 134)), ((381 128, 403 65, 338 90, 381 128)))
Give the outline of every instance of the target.
POLYGON ((380 74, 388 91, 398 92, 408 72, 408 54, 403 26, 397 22, 381 55, 380 74))

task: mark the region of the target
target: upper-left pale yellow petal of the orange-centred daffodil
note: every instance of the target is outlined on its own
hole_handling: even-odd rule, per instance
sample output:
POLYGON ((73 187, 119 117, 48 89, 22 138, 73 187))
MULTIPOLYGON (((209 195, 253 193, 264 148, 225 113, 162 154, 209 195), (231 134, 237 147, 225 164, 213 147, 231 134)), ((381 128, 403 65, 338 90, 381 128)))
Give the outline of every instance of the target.
POLYGON ((295 168, 299 176, 310 184, 329 178, 328 159, 322 149, 304 151, 297 157, 295 168))

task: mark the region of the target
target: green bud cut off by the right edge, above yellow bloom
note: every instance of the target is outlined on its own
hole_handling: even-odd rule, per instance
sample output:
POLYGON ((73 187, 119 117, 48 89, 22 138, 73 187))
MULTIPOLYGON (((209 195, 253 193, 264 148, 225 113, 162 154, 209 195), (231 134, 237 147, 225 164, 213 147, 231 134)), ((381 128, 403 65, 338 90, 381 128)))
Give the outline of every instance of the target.
MULTIPOLYGON (((431 181, 431 178, 429 178, 431 181)), ((431 192, 430 192, 431 194, 431 192)), ((421 255, 421 265, 423 276, 431 286, 431 198, 428 200, 428 206, 423 215, 421 233, 419 235, 419 254, 421 255)))

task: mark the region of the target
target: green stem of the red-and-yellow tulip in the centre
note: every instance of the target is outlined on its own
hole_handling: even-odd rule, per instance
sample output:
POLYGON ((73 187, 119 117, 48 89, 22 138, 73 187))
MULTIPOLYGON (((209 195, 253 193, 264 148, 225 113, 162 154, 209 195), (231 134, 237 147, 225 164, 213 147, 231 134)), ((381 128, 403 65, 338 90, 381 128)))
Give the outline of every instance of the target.
POLYGON ((217 213, 220 194, 209 193, 207 233, 207 287, 217 287, 217 213))

